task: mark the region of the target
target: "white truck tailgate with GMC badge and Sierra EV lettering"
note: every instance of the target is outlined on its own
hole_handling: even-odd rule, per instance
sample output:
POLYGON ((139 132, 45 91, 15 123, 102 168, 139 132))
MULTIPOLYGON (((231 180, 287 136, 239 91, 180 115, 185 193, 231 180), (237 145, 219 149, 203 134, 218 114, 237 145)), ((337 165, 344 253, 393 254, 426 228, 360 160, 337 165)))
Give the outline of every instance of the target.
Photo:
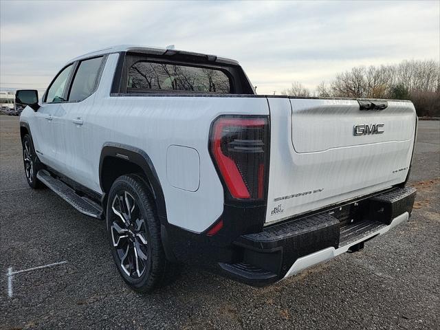
POLYGON ((266 223, 369 195, 406 179, 417 117, 411 102, 268 98, 266 223))

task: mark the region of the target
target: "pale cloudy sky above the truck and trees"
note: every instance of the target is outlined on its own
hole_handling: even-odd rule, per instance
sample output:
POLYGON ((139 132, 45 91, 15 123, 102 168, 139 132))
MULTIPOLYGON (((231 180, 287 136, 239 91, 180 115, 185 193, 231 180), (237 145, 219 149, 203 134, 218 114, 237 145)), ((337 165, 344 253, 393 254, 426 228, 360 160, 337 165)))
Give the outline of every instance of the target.
POLYGON ((440 1, 0 0, 0 87, 44 90, 70 58, 135 44, 238 60, 259 94, 355 65, 435 59, 440 1))

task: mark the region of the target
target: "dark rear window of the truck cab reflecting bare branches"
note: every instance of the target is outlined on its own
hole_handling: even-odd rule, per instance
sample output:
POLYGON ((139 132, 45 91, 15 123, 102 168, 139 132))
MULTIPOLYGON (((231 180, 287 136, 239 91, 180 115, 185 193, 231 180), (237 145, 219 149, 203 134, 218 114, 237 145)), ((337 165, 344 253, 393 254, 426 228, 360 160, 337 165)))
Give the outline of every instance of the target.
POLYGON ((127 91, 231 93, 229 77, 218 69, 141 61, 129 69, 127 91))

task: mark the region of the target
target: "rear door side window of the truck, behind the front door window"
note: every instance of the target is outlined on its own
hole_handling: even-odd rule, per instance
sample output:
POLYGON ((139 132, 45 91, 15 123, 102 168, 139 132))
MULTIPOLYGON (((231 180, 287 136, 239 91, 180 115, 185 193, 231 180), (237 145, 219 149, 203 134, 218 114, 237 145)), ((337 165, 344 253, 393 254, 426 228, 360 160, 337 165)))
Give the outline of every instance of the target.
POLYGON ((101 63, 102 57, 80 62, 70 89, 69 101, 82 101, 94 93, 101 63))

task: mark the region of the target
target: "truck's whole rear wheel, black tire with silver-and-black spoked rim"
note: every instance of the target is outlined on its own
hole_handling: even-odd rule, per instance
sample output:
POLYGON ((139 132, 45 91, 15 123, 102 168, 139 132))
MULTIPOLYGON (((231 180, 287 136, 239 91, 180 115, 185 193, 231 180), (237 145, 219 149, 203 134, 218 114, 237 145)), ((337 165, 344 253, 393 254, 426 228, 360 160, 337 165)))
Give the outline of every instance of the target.
POLYGON ((107 238, 115 265, 131 289, 151 292, 166 284, 170 262, 153 197, 139 175, 122 175, 113 182, 107 201, 107 238))

